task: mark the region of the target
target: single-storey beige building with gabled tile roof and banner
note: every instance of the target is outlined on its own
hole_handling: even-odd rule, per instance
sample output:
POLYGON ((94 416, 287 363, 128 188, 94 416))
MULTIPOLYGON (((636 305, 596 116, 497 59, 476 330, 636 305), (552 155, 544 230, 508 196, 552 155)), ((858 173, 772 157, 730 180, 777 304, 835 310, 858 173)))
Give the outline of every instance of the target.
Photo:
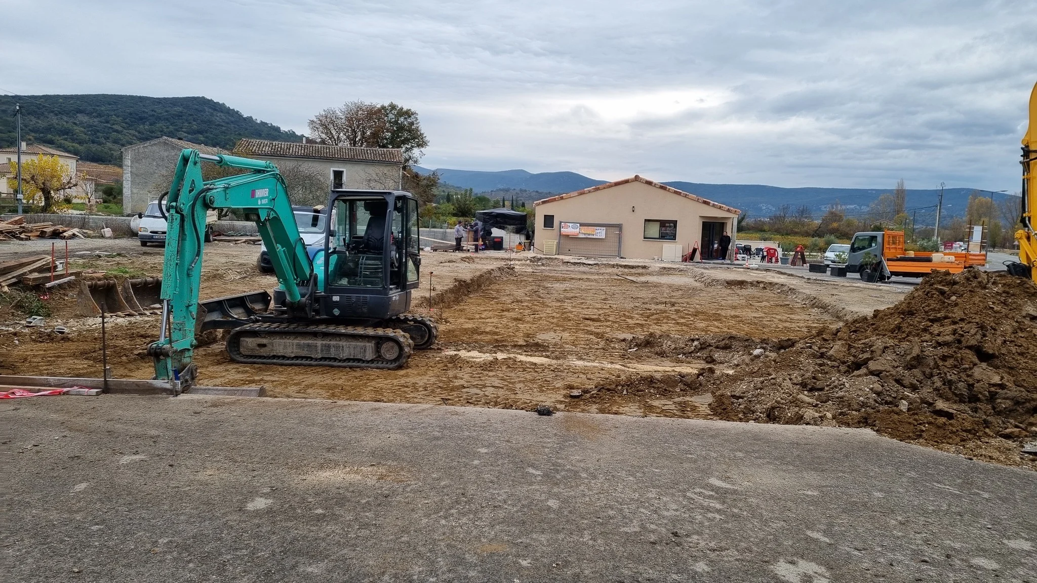
MULTIPOLYGON (((587 257, 721 259, 720 239, 735 240, 741 211, 634 176, 533 203, 534 251, 587 257)), ((731 256, 730 250, 728 253, 731 256)))

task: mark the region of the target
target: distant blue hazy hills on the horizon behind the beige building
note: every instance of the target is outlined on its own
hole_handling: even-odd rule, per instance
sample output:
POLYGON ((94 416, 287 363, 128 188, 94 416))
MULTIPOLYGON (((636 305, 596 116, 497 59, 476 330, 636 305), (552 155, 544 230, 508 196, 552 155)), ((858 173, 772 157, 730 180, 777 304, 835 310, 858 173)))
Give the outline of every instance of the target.
MULTIPOLYGON (((417 167, 419 172, 431 170, 417 167)), ((489 196, 514 195, 516 200, 537 200, 554 194, 572 192, 605 184, 576 172, 539 172, 526 170, 502 170, 487 172, 478 170, 456 170, 438 168, 444 183, 458 188, 471 188, 477 194, 489 196)), ((705 183, 689 183, 673 181, 664 183, 677 190, 691 192, 699 196, 723 202, 749 213, 754 217, 769 216, 783 204, 793 209, 806 204, 815 216, 820 217, 830 204, 837 201, 852 215, 864 212, 882 193, 892 192, 892 185, 886 189, 854 189, 854 188, 782 188, 766 185, 714 185, 705 183)), ((974 192, 970 188, 951 188, 944 191, 944 213, 946 216, 964 213, 969 195, 974 192)), ((934 206, 938 199, 938 190, 908 190, 907 207, 914 213, 918 210, 918 220, 921 224, 932 222, 935 216, 934 206)))

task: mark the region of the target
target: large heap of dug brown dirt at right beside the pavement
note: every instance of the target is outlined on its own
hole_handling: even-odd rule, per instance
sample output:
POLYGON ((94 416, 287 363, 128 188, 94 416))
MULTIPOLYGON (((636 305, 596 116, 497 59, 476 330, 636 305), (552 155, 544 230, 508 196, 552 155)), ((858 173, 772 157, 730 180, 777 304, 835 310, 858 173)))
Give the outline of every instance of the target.
MULTIPOLYGON (((1037 464, 1019 453, 1037 439, 1037 286, 1028 280, 938 272, 891 308, 780 348, 733 374, 703 371, 718 417, 872 427, 981 459, 1037 464)), ((732 360, 746 360, 749 349, 732 360)))

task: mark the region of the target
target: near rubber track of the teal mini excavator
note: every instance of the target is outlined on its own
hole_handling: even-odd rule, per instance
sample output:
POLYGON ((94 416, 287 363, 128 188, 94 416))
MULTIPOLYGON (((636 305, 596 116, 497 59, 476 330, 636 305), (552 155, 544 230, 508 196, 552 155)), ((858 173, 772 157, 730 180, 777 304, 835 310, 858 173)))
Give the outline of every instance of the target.
POLYGON ((414 342, 407 334, 388 328, 364 328, 362 326, 314 326, 307 324, 249 324, 234 328, 227 336, 227 354, 235 362, 246 364, 281 364, 289 366, 341 366, 347 368, 399 368, 407 363, 407 359, 414 350, 414 342), (248 332, 261 332, 263 334, 338 334, 342 336, 362 336, 377 338, 393 338, 401 346, 399 356, 395 360, 362 360, 337 358, 312 358, 312 357, 252 357, 241 353, 240 338, 248 332))

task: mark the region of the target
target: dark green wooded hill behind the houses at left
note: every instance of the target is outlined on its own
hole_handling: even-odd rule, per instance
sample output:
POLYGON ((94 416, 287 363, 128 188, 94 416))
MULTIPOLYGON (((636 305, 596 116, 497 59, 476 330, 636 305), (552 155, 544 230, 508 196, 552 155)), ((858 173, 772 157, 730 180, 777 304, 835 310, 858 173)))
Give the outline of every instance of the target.
POLYGON ((22 141, 122 164, 121 148, 168 136, 230 149, 240 138, 300 141, 302 136, 248 117, 208 98, 142 95, 0 95, 0 147, 16 142, 15 104, 22 106, 22 141))

